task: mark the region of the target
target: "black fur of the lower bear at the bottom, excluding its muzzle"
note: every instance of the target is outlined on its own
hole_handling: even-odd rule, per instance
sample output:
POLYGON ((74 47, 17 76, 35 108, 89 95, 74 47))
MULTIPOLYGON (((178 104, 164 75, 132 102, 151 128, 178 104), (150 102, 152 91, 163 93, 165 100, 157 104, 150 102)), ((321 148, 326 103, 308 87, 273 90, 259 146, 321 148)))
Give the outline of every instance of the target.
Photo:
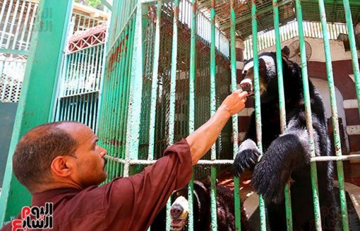
MULTIPOLYGON (((210 229, 210 184, 207 181, 194 181, 193 216, 194 230, 209 231, 210 229)), ((187 187, 177 190, 173 194, 173 200, 177 197, 188 198, 187 187)), ((233 190, 223 185, 217 185, 217 224, 219 231, 235 230, 233 190)), ((174 204, 173 204, 174 206, 174 204)), ((166 211, 169 213, 170 211, 166 211)), ((165 230, 165 212, 162 211, 155 219, 152 230, 165 230), (162 220, 162 221, 161 221, 162 220)), ((186 229, 186 227, 184 227, 186 229)), ((250 230, 247 224, 245 210, 241 208, 241 230, 250 230)))

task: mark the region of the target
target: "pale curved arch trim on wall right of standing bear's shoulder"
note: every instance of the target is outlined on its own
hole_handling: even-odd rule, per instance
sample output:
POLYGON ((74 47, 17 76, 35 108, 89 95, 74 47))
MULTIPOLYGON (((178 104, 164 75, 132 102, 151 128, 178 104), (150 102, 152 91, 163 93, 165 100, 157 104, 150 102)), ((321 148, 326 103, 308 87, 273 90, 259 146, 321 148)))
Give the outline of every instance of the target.
MULTIPOLYGON (((314 84, 316 89, 319 91, 323 104, 326 110, 327 118, 331 117, 331 106, 330 106, 330 97, 329 97, 329 89, 328 89, 328 82, 322 79, 311 78, 311 82, 314 84)), ((336 94, 336 106, 337 106, 337 113, 338 117, 343 120, 344 125, 344 133, 345 133, 345 141, 346 146, 349 148, 349 139, 348 134, 346 132, 346 117, 345 117, 345 109, 343 104, 343 95, 341 95, 339 89, 335 87, 335 94, 336 94)))

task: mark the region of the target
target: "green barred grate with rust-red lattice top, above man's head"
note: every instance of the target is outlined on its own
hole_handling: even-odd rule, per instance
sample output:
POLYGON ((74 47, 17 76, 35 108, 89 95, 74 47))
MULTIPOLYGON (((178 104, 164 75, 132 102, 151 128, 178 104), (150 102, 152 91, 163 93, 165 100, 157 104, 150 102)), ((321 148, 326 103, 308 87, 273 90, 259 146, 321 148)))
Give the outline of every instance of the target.
POLYGON ((104 25, 69 39, 55 121, 78 121, 96 131, 104 73, 105 34, 104 25))

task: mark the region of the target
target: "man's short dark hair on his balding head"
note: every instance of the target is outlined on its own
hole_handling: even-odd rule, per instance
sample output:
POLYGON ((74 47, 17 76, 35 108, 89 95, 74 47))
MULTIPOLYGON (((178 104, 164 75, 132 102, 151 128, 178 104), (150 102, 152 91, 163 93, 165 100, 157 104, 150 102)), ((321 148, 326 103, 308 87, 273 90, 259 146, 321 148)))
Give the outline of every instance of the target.
POLYGON ((16 145, 12 168, 17 180, 30 191, 36 185, 51 181, 50 165, 58 156, 73 155, 78 143, 62 123, 54 122, 37 126, 26 132, 16 145))

